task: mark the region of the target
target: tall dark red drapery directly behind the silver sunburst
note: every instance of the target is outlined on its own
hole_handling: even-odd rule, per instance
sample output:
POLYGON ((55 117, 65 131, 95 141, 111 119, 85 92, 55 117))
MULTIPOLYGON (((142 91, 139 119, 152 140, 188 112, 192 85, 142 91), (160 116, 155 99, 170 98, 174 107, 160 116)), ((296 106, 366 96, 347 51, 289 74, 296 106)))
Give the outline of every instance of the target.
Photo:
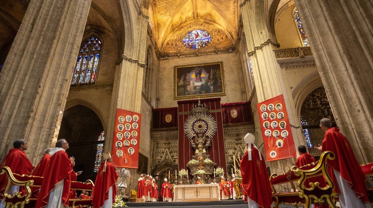
MULTIPOLYGON (((191 113, 192 105, 196 105, 198 100, 178 101, 178 122, 179 122, 179 169, 186 169, 186 163, 192 159, 195 154, 194 149, 190 146, 188 138, 184 134, 184 121, 191 113)), ((207 149, 210 159, 216 163, 216 166, 226 170, 223 119, 220 97, 211 99, 201 99, 201 104, 206 104, 211 115, 216 119, 217 132, 212 138, 211 146, 207 149)))

